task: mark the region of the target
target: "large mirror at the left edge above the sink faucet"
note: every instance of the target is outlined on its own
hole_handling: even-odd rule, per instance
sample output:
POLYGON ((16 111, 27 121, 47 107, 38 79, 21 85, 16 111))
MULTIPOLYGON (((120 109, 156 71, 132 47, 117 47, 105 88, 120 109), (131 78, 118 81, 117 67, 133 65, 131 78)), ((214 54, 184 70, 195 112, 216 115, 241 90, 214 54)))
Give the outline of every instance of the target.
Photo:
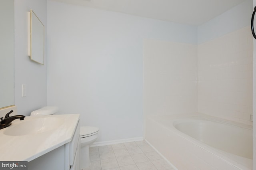
POLYGON ((0 1, 0 108, 14 105, 14 0, 0 1))

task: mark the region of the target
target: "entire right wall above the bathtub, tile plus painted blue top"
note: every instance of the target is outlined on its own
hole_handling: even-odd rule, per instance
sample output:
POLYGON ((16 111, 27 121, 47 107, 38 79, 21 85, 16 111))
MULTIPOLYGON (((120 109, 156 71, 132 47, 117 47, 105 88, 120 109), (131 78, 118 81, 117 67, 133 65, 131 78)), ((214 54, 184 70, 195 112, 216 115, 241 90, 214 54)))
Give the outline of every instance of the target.
POLYGON ((198 27, 198 112, 252 125, 252 1, 198 27))

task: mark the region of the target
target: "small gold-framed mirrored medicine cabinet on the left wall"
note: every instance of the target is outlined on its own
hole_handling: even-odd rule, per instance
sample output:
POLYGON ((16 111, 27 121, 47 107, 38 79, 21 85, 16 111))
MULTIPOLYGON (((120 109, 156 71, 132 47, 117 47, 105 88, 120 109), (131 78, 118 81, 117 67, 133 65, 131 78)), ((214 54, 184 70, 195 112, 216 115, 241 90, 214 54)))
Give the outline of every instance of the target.
POLYGON ((44 65, 44 24, 33 10, 29 12, 28 56, 32 61, 44 65))

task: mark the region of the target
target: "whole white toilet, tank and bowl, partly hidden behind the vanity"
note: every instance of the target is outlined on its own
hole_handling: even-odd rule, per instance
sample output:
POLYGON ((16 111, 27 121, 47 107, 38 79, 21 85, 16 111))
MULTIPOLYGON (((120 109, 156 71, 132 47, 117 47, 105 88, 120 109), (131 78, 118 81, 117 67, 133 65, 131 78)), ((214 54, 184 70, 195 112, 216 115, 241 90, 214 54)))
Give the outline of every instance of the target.
MULTIPOLYGON (((46 106, 32 111, 30 116, 54 115, 58 107, 46 106)), ((81 149, 80 149, 80 169, 90 166, 89 147, 98 138, 98 127, 80 127, 81 149)))

